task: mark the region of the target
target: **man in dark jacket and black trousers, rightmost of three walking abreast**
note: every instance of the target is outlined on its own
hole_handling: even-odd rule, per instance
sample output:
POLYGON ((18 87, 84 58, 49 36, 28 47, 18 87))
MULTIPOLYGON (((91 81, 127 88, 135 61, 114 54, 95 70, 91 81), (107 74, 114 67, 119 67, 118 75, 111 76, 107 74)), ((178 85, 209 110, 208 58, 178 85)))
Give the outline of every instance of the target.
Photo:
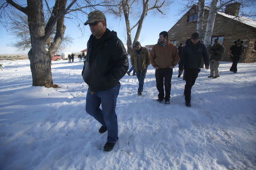
POLYGON ((185 105, 191 107, 191 89, 196 82, 198 73, 200 72, 201 59, 204 59, 205 68, 209 69, 209 56, 205 45, 199 41, 199 34, 193 33, 191 40, 181 51, 181 59, 179 68, 184 66, 185 71, 185 105))

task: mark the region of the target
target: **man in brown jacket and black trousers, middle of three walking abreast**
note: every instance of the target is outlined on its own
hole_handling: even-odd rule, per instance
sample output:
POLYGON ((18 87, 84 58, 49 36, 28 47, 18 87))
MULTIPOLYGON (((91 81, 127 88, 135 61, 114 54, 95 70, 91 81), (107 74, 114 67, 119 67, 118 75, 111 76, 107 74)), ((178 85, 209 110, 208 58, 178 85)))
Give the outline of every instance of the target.
POLYGON ((162 102, 164 99, 166 104, 170 104, 172 69, 179 59, 176 46, 168 40, 168 32, 160 32, 158 43, 152 47, 150 55, 150 63, 156 69, 155 79, 156 88, 159 92, 158 102, 162 102), (166 92, 165 96, 164 90, 166 92))

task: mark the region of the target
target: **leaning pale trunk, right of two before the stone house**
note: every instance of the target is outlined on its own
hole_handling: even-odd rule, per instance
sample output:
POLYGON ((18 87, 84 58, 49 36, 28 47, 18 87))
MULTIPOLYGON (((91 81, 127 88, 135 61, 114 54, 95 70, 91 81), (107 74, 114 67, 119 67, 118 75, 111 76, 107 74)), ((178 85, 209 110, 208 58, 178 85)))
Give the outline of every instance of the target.
POLYGON ((212 31, 213 31, 214 22, 215 22, 215 16, 217 14, 217 3, 218 3, 218 0, 212 0, 210 4, 207 28, 205 30, 205 35, 204 35, 205 47, 208 47, 210 45, 210 40, 212 39, 212 31))

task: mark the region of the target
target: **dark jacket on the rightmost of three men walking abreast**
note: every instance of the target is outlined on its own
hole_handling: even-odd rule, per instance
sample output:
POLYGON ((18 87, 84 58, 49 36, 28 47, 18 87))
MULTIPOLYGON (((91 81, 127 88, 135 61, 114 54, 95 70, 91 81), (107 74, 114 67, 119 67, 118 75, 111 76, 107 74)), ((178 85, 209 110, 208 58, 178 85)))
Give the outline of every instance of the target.
POLYGON ((205 65, 209 65, 209 56, 205 45, 200 41, 193 44, 191 41, 185 45, 181 52, 179 68, 200 68, 202 57, 205 65))

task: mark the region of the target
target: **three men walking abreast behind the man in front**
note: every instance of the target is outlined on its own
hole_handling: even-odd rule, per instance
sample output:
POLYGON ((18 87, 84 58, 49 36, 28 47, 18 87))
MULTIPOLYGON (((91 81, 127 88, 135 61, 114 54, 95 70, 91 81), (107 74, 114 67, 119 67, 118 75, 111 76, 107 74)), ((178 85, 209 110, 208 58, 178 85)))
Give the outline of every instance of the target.
POLYGON ((136 42, 135 49, 131 52, 131 65, 133 65, 139 81, 138 95, 142 95, 147 67, 151 63, 155 68, 156 88, 159 92, 157 101, 164 100, 164 103, 170 104, 172 72, 180 60, 179 67, 184 68, 185 72, 185 105, 191 107, 191 88, 200 72, 202 58, 205 68, 209 68, 207 49, 199 41, 197 32, 192 34, 191 40, 183 47, 180 54, 179 56, 176 46, 168 39, 166 31, 160 32, 158 43, 152 47, 151 52, 136 42))

